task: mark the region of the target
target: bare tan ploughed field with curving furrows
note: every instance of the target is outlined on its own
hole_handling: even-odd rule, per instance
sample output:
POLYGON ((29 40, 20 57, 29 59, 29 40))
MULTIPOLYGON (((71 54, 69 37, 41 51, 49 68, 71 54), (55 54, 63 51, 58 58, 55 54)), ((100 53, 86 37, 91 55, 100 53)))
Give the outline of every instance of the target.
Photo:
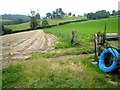
POLYGON ((46 34, 43 30, 21 32, 0 38, 2 38, 3 59, 6 55, 22 57, 31 52, 51 50, 57 40, 54 35, 46 34))

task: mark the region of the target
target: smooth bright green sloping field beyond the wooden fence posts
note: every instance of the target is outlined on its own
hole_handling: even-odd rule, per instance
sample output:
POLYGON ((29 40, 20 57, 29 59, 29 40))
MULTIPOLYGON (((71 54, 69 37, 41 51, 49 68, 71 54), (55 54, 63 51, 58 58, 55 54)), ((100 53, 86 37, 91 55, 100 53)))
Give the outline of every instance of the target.
POLYGON ((107 19, 89 20, 86 22, 71 23, 63 26, 45 29, 46 32, 58 34, 60 32, 71 33, 71 30, 77 30, 77 33, 94 34, 98 31, 103 32, 105 24, 107 32, 118 33, 118 17, 111 17, 107 19))

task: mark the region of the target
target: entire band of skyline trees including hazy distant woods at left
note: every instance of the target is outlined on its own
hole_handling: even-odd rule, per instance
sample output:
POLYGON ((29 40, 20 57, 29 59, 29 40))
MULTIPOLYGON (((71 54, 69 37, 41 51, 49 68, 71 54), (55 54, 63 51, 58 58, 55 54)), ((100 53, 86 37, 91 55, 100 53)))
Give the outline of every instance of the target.
MULTIPOLYGON (((84 14, 84 16, 86 16, 88 19, 92 19, 92 20, 109 18, 110 16, 115 16, 115 15, 120 15, 120 10, 118 10, 118 11, 113 10, 111 14, 110 14, 109 11, 106 11, 106 10, 96 11, 95 13, 91 12, 91 13, 84 14)), ((7 16, 12 17, 11 15, 3 15, 2 18, 4 19, 7 16)), ((19 16, 21 17, 21 15, 19 15, 19 16)), ((72 14, 71 12, 69 12, 67 14, 62 10, 62 8, 58 8, 58 9, 54 10, 52 13, 50 13, 50 12, 46 13, 46 17, 44 17, 42 19, 40 17, 39 10, 37 10, 37 13, 34 10, 31 10, 30 15, 22 16, 22 17, 24 17, 26 21, 27 20, 30 21, 31 29, 36 29, 38 27, 49 26, 47 18, 62 19, 63 17, 67 17, 67 16, 76 16, 76 15, 72 14)), ((78 16, 80 16, 80 15, 78 15, 78 16)), ((15 20, 17 20, 17 23, 23 23, 24 22, 20 17, 19 17, 19 19, 18 19, 18 16, 16 17, 17 19, 14 18, 15 20)), ((80 17, 82 17, 82 16, 80 16, 80 17)), ((3 25, 2 27, 4 29, 3 31, 7 32, 8 30, 6 30, 6 28, 4 28, 4 24, 2 24, 2 25, 3 25)), ((11 31, 11 30, 9 30, 9 31, 11 31)))

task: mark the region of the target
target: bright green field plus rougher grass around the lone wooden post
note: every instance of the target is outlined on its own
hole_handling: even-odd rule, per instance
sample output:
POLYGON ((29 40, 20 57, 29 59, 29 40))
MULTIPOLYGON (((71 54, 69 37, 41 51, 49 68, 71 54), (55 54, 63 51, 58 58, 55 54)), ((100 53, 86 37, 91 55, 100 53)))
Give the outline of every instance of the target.
MULTIPOLYGON (((52 33, 59 37, 59 43, 56 48, 71 47, 71 32, 76 30, 78 43, 89 45, 90 38, 97 32, 104 32, 106 23, 107 33, 118 33, 118 17, 112 17, 100 20, 89 20, 85 22, 70 23, 63 26, 45 29, 45 32, 52 33)), ((79 45, 80 46, 80 45, 79 45)))

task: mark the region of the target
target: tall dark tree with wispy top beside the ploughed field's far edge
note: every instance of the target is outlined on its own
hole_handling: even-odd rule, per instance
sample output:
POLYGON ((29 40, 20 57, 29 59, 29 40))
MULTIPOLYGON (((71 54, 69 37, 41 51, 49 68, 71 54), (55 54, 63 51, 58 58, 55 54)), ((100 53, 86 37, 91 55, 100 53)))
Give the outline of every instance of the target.
POLYGON ((37 13, 35 14, 35 11, 31 11, 31 16, 30 17, 30 27, 32 29, 35 29, 37 26, 39 26, 39 17, 40 15, 37 13))

